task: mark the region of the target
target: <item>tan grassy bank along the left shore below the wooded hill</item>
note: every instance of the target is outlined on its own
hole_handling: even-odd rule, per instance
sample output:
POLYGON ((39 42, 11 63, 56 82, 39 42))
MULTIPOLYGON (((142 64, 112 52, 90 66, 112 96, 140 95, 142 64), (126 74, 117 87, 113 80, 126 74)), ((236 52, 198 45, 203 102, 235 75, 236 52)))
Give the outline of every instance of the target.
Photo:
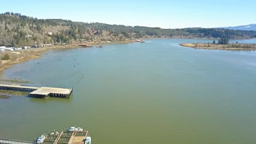
MULTIPOLYGON (((135 40, 127 40, 127 41, 115 41, 115 42, 104 42, 104 43, 86 43, 88 45, 102 45, 102 44, 129 44, 135 43, 135 40)), ((2 60, 0 59, 0 71, 3 71, 7 68, 13 67, 14 64, 22 63, 29 61, 31 59, 39 58, 42 54, 49 50, 61 50, 61 49, 74 49, 78 48, 78 42, 74 42, 70 45, 59 45, 59 46, 51 46, 51 47, 40 47, 40 48, 31 48, 27 50, 19 50, 19 51, 4 51, 0 52, 0 58, 4 57, 6 53, 8 53, 10 59, 9 60, 2 60), (13 53, 13 52, 19 52, 13 53)), ((83 47, 84 48, 84 47, 83 47)))

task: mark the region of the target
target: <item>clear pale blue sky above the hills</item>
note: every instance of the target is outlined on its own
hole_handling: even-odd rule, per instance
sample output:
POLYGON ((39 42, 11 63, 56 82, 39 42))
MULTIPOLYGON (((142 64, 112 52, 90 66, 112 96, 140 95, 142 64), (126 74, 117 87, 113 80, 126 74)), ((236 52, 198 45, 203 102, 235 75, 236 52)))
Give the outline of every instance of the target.
POLYGON ((39 19, 67 19, 161 28, 225 27, 256 23, 256 1, 190 0, 10 0, 0 13, 13 11, 39 19))

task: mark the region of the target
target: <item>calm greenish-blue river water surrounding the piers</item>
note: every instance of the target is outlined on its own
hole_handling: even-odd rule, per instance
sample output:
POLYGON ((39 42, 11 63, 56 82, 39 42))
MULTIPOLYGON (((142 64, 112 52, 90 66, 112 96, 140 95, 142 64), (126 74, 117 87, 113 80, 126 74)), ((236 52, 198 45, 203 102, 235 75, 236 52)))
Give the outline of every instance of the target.
POLYGON ((74 93, 71 99, 0 100, 0 137, 32 141, 77 125, 90 131, 93 143, 255 143, 256 51, 178 45, 196 41, 49 51, 16 64, 2 77, 74 93))

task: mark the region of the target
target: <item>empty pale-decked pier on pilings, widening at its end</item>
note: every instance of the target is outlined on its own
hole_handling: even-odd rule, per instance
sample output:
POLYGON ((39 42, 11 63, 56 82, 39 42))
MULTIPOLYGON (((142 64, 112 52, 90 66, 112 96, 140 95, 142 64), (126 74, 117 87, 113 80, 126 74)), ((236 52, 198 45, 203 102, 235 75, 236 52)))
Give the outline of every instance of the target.
POLYGON ((28 87, 20 85, 0 85, 1 90, 28 92, 29 97, 33 98, 70 98, 73 92, 72 88, 54 88, 54 87, 28 87))

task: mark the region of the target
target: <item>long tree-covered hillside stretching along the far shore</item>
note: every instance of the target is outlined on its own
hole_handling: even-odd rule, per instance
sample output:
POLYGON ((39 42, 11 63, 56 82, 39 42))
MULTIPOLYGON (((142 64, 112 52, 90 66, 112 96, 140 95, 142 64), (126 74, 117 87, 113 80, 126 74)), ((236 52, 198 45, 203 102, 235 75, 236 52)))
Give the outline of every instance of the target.
POLYGON ((73 22, 61 19, 37 19, 18 13, 0 14, 0 45, 70 44, 74 40, 125 41, 140 38, 256 38, 256 31, 220 28, 162 29, 141 26, 73 22))

